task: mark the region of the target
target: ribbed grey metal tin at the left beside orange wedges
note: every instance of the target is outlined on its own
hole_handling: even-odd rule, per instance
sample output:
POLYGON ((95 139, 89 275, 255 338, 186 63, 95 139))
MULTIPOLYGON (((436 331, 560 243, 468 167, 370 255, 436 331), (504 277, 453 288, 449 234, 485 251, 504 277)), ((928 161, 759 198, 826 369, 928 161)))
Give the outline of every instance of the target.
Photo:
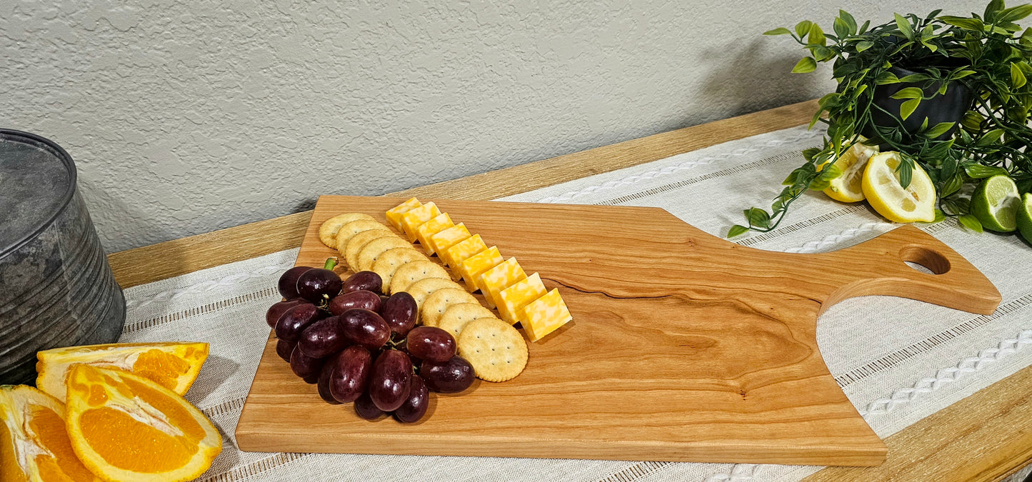
MULTIPOLYGON (((34 163, 40 162, 40 153, 64 156, 60 162, 71 169, 70 183, 74 183, 71 159, 56 144, 12 131, 0 131, 0 142, 25 142, 30 154, 36 149, 30 156, 34 163)), ((27 161, 17 157, 0 159, 8 170, 19 162, 27 161)), ((0 189, 9 182, 10 178, 0 179, 0 189)), ((0 254, 0 384, 31 383, 39 350, 112 343, 122 332, 122 289, 115 282, 82 196, 73 184, 69 188, 71 196, 63 199, 64 204, 58 205, 53 217, 31 213, 45 221, 21 226, 27 230, 25 236, 15 233, 21 240, 0 254)), ((40 204, 46 204, 44 201, 40 200, 40 204)), ((26 208, 24 199, 9 198, 0 199, 0 207, 14 202, 26 208)), ((6 234, 12 235, 9 231, 6 234)))

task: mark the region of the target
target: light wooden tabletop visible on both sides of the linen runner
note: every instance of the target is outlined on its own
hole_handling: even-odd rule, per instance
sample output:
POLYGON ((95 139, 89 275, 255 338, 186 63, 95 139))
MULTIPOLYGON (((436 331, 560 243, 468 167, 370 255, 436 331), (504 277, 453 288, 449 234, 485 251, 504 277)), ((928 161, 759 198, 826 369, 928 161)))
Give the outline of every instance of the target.
MULTIPOLYGON (((809 122, 816 101, 772 108, 515 167, 408 189, 396 196, 493 199, 809 122)), ((313 193, 313 196, 325 193, 313 193)), ((312 212, 107 256, 123 288, 297 248, 312 212)), ((876 468, 828 468, 807 481, 994 481, 1032 462, 1032 366, 885 439, 876 468)))

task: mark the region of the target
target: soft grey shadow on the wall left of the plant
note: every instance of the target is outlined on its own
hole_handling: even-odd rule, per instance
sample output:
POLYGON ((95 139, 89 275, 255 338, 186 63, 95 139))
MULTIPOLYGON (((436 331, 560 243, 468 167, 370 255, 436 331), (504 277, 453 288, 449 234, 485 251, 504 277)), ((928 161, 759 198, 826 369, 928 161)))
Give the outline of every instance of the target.
MULTIPOLYGON (((823 81, 831 76, 830 72, 821 70, 809 74, 791 73, 805 52, 800 49, 798 56, 775 56, 766 49, 768 46, 770 39, 759 37, 738 44, 736 50, 723 46, 703 52, 702 57, 711 66, 709 70, 714 72, 702 90, 714 110, 707 119, 741 116, 809 100, 813 97, 810 93, 819 90, 825 84, 823 81)), ((829 86, 834 89, 834 85, 829 86)))

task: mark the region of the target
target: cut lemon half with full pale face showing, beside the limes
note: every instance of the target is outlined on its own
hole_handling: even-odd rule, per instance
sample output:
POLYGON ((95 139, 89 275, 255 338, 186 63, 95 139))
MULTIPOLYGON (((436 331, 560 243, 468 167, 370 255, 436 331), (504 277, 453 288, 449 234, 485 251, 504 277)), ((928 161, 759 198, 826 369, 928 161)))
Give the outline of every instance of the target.
POLYGON ((861 183, 867 202, 890 221, 935 221, 935 185, 925 169, 914 164, 910 185, 904 189, 896 171, 901 162, 900 153, 892 151, 876 154, 867 161, 861 183))

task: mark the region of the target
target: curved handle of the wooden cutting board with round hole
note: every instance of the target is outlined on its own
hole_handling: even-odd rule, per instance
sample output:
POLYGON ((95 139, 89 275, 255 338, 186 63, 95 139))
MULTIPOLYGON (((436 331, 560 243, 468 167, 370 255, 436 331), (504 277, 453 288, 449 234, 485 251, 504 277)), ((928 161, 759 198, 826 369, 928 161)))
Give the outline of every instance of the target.
POLYGON ((902 226, 844 250, 825 253, 823 262, 857 277, 831 293, 821 312, 842 299, 872 294, 903 296, 989 315, 1002 299, 999 290, 967 259, 931 234, 902 226), (923 272, 906 262, 921 264, 923 272))

